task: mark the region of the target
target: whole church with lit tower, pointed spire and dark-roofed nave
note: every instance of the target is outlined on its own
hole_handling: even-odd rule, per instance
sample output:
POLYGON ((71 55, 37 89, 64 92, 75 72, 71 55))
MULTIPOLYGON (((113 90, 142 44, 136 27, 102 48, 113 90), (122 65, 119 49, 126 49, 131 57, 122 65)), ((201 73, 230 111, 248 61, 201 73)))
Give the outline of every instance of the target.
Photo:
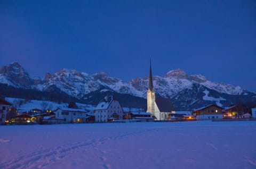
POLYGON ((147 91, 147 112, 151 113, 151 116, 155 120, 169 120, 175 113, 171 99, 156 97, 156 93, 153 87, 153 77, 151 70, 151 60, 149 65, 149 87, 147 91))

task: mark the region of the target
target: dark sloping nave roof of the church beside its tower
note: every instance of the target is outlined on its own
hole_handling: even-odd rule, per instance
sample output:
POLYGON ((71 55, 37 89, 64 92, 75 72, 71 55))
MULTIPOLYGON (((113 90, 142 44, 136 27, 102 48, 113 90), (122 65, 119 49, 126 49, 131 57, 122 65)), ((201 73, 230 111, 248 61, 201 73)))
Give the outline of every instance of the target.
POLYGON ((174 111, 172 100, 169 98, 156 97, 155 102, 160 112, 174 111))

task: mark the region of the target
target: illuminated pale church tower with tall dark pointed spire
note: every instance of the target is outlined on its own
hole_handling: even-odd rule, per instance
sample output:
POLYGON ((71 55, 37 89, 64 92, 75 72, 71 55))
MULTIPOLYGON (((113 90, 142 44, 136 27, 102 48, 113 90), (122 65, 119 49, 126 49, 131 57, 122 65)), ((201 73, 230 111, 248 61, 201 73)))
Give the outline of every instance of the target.
POLYGON ((151 113, 152 116, 155 116, 155 99, 156 93, 153 87, 153 77, 152 77, 152 70, 151 70, 151 59, 149 65, 149 87, 147 92, 147 112, 151 113))

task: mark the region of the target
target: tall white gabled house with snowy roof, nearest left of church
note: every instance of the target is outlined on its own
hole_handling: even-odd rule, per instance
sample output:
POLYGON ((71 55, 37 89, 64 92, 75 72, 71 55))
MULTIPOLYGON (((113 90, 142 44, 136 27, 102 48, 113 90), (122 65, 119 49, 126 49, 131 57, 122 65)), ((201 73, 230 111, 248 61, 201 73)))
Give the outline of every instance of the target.
POLYGON ((113 96, 106 96, 94 109, 95 122, 123 119, 123 108, 113 96))

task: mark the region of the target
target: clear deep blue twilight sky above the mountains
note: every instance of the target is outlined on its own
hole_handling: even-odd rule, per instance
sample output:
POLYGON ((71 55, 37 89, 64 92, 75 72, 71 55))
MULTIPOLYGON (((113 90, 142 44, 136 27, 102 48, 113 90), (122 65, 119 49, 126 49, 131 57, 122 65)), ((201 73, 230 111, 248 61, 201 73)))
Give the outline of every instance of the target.
POLYGON ((0 66, 125 82, 182 69, 256 92, 256 1, 0 1, 0 66))

